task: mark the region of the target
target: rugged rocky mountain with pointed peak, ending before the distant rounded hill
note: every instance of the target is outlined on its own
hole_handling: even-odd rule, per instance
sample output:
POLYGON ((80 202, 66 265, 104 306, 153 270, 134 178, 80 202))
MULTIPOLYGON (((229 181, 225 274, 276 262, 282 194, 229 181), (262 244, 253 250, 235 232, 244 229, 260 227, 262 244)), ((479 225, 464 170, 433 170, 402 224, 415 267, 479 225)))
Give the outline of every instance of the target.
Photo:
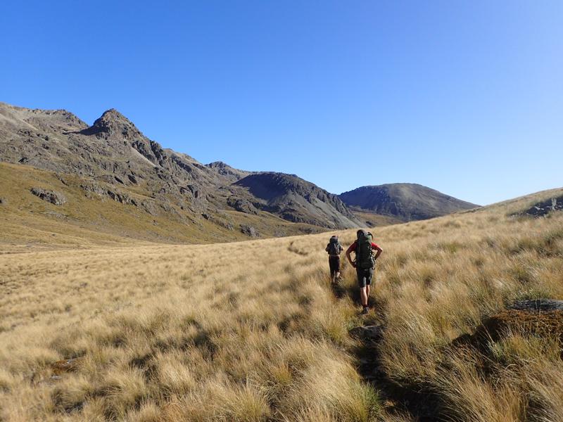
MULTIPOLYGON (((184 231, 194 240, 213 234, 236 239, 360 225, 339 198, 297 177, 278 174, 293 180, 286 184, 287 191, 277 191, 279 198, 255 195, 259 191, 256 181, 270 186, 271 176, 253 179, 253 172, 224 162, 203 165, 189 155, 163 148, 115 109, 107 110, 89 126, 67 110, 32 110, 0 103, 0 161, 32 166, 56 176, 34 173, 41 174, 43 185, 28 187, 27 196, 32 195, 31 188, 49 191, 51 185, 58 186, 68 197, 60 206, 70 215, 75 214, 73 204, 82 204, 77 199, 79 192, 94 208, 100 201, 112 200, 117 203, 113 204, 115 215, 131 214, 129 208, 133 207, 135 212, 143 212, 148 222, 153 217, 174 222, 174 229, 170 226, 159 235, 167 239, 186 241, 180 234, 184 231), (298 224, 291 224, 295 222, 298 224)), ((14 170, 4 167, 2 171, 14 170)), ((19 195, 18 201, 25 200, 19 195)), ((98 218, 101 226, 110 227, 110 215, 98 218)), ((134 226, 129 219, 124 221, 134 226)), ((140 231, 127 233, 139 236, 140 231)))

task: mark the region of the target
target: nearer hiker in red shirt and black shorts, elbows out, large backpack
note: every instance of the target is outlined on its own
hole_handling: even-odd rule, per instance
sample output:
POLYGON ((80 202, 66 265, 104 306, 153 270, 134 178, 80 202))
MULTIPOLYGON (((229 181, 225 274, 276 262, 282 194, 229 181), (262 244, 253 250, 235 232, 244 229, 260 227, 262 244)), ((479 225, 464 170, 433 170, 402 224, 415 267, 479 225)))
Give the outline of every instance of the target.
POLYGON ((369 312, 367 306, 367 298, 369 298, 369 286, 372 284, 372 277, 374 275, 375 261, 383 252, 383 249, 373 243, 373 235, 365 230, 358 230, 356 232, 358 237, 350 248, 346 250, 346 257, 352 267, 356 269, 358 274, 358 284, 360 285, 360 298, 362 300, 362 314, 369 312), (374 250, 377 252, 374 255, 374 250), (355 252, 355 260, 352 261, 350 253, 355 252))

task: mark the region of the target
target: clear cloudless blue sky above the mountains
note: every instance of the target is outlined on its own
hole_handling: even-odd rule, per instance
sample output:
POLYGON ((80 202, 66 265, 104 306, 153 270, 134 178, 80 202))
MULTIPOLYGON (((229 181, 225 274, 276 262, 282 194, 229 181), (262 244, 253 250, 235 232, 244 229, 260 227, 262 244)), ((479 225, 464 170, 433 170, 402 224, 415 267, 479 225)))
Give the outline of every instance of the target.
POLYGON ((16 1, 0 101, 201 162, 486 204, 563 186, 563 1, 16 1))

